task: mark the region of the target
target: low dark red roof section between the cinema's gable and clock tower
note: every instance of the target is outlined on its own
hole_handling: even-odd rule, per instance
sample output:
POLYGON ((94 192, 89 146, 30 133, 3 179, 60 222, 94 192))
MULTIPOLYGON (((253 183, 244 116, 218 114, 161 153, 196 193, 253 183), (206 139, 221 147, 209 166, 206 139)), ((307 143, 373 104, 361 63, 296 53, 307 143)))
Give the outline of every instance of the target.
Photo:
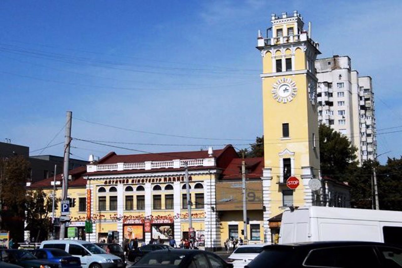
MULTIPOLYGON (((242 178, 242 158, 234 158, 222 173, 222 179, 242 178)), ((246 178, 259 179, 263 176, 264 158, 244 158, 246 162, 246 178)))

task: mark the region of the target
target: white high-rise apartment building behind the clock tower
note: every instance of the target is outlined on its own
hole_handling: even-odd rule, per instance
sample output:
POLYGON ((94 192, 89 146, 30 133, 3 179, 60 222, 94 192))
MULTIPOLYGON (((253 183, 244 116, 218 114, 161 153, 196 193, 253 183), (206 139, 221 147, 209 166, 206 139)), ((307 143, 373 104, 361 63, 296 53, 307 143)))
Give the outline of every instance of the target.
POLYGON ((371 77, 351 70, 348 56, 318 59, 318 121, 344 134, 357 148, 360 164, 376 157, 374 93, 371 77))

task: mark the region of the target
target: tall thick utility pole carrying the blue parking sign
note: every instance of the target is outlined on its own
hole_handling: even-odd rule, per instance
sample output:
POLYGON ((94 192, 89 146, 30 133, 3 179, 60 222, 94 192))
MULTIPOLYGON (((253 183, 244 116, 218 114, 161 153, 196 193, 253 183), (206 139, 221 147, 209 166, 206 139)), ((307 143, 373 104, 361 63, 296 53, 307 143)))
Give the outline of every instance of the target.
MULTIPOLYGON (((67 111, 66 115, 66 139, 64 140, 64 166, 63 166, 63 185, 62 185, 62 201, 67 200, 68 193, 68 162, 70 160, 70 143, 71 143, 71 119, 72 112, 67 111)), ((60 239, 64 239, 66 232, 66 221, 60 221, 60 239)))

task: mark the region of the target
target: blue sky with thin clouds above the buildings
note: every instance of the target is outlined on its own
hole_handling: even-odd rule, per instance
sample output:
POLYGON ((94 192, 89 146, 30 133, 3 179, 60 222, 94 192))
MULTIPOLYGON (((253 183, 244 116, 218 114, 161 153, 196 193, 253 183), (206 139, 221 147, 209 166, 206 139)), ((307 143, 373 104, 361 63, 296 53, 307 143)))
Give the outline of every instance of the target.
POLYGON ((399 158, 401 1, 2 0, 0 138, 62 155, 71 110, 74 138, 109 144, 73 140, 74 158, 248 147, 263 134, 257 31, 293 10, 320 57, 373 77, 379 160, 399 158))

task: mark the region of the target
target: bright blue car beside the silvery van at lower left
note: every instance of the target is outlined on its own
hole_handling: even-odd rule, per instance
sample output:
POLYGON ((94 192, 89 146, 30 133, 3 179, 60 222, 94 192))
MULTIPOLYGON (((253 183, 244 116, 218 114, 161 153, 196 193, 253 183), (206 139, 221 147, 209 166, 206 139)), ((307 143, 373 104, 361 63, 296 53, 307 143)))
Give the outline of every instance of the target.
POLYGON ((41 248, 32 250, 31 253, 40 260, 47 260, 59 264, 61 268, 81 268, 81 260, 78 257, 71 256, 64 250, 57 248, 41 248))

